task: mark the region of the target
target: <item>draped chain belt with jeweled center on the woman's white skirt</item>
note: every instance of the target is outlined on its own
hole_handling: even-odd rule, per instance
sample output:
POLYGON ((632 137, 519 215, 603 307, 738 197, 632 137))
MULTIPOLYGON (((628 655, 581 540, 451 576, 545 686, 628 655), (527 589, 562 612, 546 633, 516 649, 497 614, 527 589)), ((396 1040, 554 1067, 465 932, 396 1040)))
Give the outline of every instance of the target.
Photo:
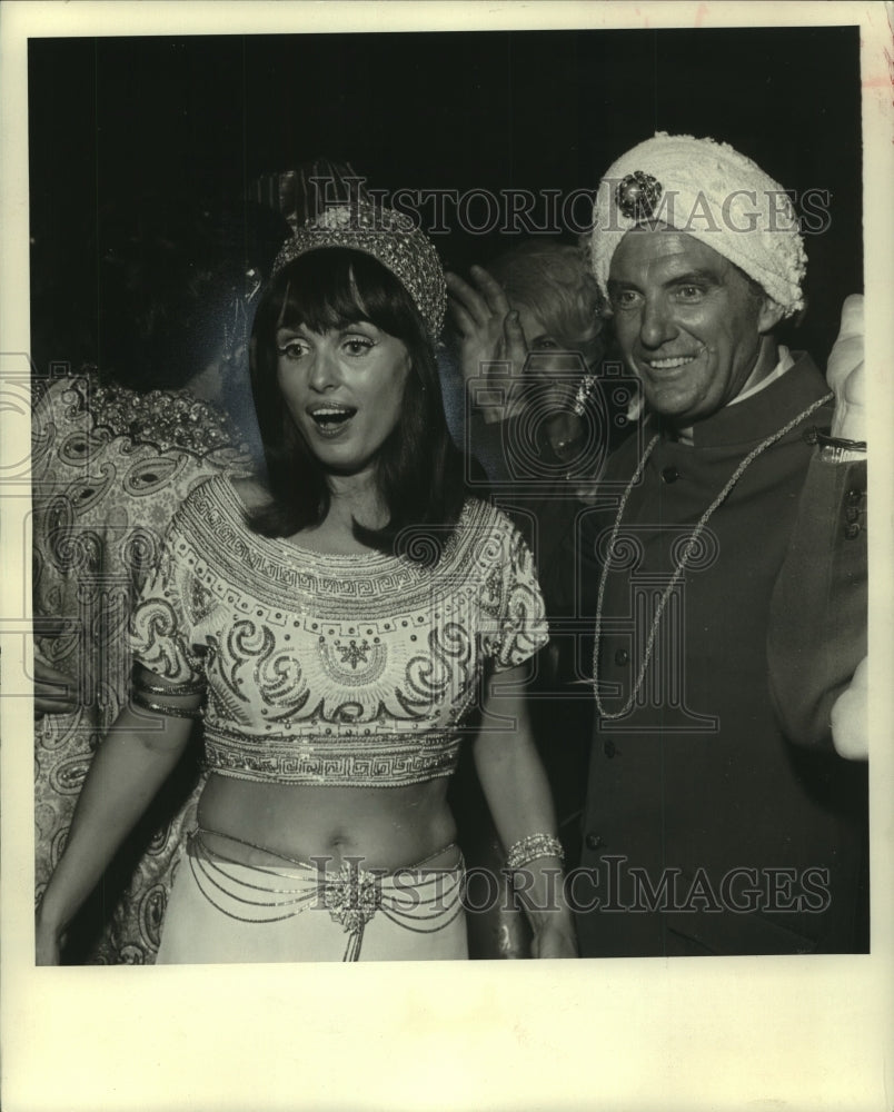
POLYGON ((262 924, 279 923, 309 909, 325 909, 329 917, 349 936, 341 959, 345 962, 359 961, 364 930, 378 912, 393 923, 416 934, 433 934, 453 923, 463 911, 465 862, 461 853, 459 862, 453 868, 423 867, 426 862, 453 848, 455 846, 453 842, 423 861, 393 871, 361 868, 359 862, 362 858, 358 857, 342 861, 337 871, 327 871, 320 867, 321 860, 317 863, 312 860, 300 861, 231 834, 220 834, 218 831, 201 827, 188 835, 187 843, 190 868, 199 891, 219 912, 242 923, 262 924), (202 834, 212 834, 229 842, 261 850, 282 861, 284 864, 306 870, 307 876, 290 876, 275 866, 246 866, 242 862, 224 856, 217 851, 209 851, 202 834), (252 884, 229 873, 228 865, 250 868, 259 874, 259 878, 265 876, 274 883, 288 882, 289 886, 252 884), (411 887, 408 884, 410 874, 413 874, 411 887), (397 876, 401 877, 399 886, 396 883, 397 876), (221 906, 217 893, 222 893, 237 903, 242 914, 221 906), (265 896, 267 898, 264 898, 265 896))

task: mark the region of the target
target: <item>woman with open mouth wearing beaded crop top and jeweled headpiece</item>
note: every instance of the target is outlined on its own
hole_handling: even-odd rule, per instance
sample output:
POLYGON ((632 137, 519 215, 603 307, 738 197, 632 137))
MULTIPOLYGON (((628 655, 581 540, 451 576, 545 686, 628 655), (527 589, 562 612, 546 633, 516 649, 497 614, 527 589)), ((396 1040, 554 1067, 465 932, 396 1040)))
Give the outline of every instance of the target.
POLYGON ((199 714, 210 775, 159 962, 465 957, 446 786, 466 736, 533 952, 574 954, 524 705, 543 603, 516 529, 463 487, 433 349, 445 302, 434 248, 388 210, 329 210, 280 252, 251 341, 267 484, 211 479, 171 525, 39 962, 199 714))

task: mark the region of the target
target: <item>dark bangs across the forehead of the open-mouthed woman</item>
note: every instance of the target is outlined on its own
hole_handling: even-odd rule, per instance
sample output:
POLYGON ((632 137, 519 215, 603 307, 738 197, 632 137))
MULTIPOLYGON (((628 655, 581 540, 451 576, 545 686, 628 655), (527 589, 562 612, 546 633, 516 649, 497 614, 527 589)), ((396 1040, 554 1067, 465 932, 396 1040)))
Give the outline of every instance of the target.
POLYGON ((276 326, 314 332, 368 320, 406 339, 421 322, 398 279, 377 259, 344 247, 299 256, 276 279, 276 326))

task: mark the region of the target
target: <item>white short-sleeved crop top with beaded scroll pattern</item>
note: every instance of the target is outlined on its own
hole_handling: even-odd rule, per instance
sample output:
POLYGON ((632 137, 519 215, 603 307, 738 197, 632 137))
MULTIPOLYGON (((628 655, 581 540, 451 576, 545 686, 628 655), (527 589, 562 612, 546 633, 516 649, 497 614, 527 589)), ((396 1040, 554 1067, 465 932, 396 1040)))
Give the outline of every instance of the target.
POLYGON ((192 492, 131 646, 166 679, 205 678, 211 772, 356 787, 450 775, 486 663, 546 643, 544 604, 528 548, 487 503, 416 543, 443 549, 437 563, 322 555, 252 533, 226 477, 192 492))

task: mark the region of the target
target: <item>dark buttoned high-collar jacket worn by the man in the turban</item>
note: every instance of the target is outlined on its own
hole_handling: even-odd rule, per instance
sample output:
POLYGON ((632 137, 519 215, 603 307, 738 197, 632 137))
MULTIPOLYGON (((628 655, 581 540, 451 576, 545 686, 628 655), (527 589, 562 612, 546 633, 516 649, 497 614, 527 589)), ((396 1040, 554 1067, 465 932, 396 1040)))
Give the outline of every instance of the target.
MULTIPOLYGON (((695 524, 748 453, 826 393, 799 356, 765 389, 698 423, 693 445, 659 430, 607 577, 606 712, 627 702, 695 524)), ((792 746, 768 683, 771 597, 815 451, 804 431, 830 416, 826 404, 747 466, 668 602, 633 709, 596 723, 582 857, 592 872, 575 886, 584 956, 866 945, 865 770, 792 746)), ((613 456, 610 507, 578 520, 576 603, 590 617, 600 545, 643 446, 633 437, 613 456)))

